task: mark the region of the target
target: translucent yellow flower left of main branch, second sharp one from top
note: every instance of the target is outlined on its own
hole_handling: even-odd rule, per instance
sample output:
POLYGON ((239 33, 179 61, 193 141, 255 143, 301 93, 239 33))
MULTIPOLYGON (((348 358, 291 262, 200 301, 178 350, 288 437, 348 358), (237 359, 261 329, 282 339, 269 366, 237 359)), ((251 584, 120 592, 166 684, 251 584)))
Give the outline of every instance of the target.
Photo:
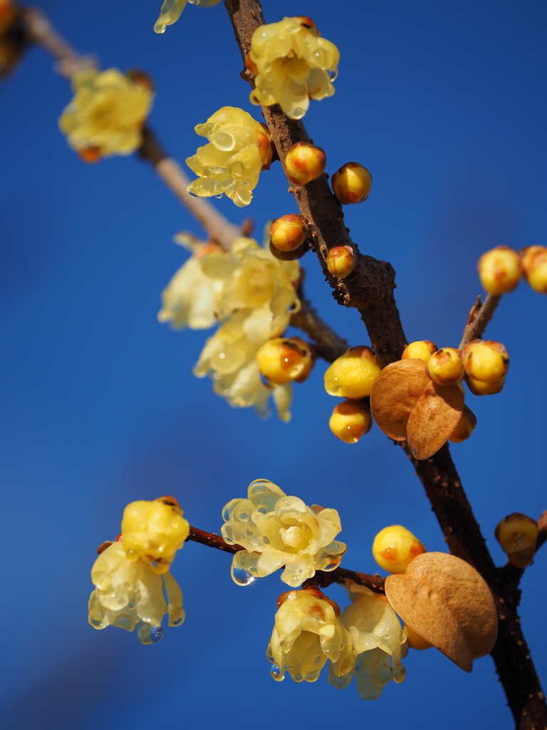
POLYGON ((199 175, 187 191, 202 198, 226 193, 238 207, 249 205, 260 170, 271 163, 267 128, 242 109, 222 107, 195 131, 208 144, 187 158, 187 166, 199 175))

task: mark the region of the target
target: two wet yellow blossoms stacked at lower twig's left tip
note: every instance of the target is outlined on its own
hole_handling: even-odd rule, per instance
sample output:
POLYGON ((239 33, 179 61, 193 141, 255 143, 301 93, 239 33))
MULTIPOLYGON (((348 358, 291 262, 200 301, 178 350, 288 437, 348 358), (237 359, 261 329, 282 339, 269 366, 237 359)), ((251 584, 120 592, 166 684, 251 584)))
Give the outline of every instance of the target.
POLYGON ((106 548, 101 545, 91 570, 96 586, 89 599, 91 626, 136 628, 142 644, 161 639, 166 613, 169 626, 180 626, 185 620, 182 591, 169 567, 189 531, 172 497, 128 504, 120 536, 106 548))

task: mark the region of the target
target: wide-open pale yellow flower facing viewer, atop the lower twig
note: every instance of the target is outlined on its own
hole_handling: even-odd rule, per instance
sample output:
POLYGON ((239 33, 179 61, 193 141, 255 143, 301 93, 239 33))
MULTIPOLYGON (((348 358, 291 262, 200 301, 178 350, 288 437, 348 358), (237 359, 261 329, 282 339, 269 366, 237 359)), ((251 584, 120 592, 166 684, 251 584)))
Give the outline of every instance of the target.
POLYGON ((238 570, 264 577, 285 566, 281 580, 297 588, 316 570, 334 570, 346 552, 344 542, 334 539, 342 529, 336 510, 308 507, 266 479, 249 485, 247 499, 225 504, 222 518, 228 545, 245 548, 233 556, 236 583, 238 570))

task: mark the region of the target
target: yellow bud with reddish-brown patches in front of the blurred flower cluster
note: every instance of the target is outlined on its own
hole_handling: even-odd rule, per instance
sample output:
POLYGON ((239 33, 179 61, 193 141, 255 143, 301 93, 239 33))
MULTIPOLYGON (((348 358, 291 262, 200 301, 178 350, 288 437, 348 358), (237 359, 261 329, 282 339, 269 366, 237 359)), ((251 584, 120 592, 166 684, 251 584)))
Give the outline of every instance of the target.
POLYGON ((309 345, 300 337, 268 339, 258 348, 257 362, 263 376, 276 385, 302 383, 314 364, 309 345))

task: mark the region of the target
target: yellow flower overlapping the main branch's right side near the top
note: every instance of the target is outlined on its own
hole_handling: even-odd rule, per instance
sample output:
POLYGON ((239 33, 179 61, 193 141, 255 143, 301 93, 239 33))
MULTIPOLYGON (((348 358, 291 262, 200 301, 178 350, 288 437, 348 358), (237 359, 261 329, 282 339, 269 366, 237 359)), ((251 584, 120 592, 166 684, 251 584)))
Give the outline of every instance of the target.
POLYGON ((247 66, 257 73, 252 104, 280 104, 287 117, 301 119, 309 99, 334 93, 340 53, 309 18, 284 18, 252 34, 247 66))

